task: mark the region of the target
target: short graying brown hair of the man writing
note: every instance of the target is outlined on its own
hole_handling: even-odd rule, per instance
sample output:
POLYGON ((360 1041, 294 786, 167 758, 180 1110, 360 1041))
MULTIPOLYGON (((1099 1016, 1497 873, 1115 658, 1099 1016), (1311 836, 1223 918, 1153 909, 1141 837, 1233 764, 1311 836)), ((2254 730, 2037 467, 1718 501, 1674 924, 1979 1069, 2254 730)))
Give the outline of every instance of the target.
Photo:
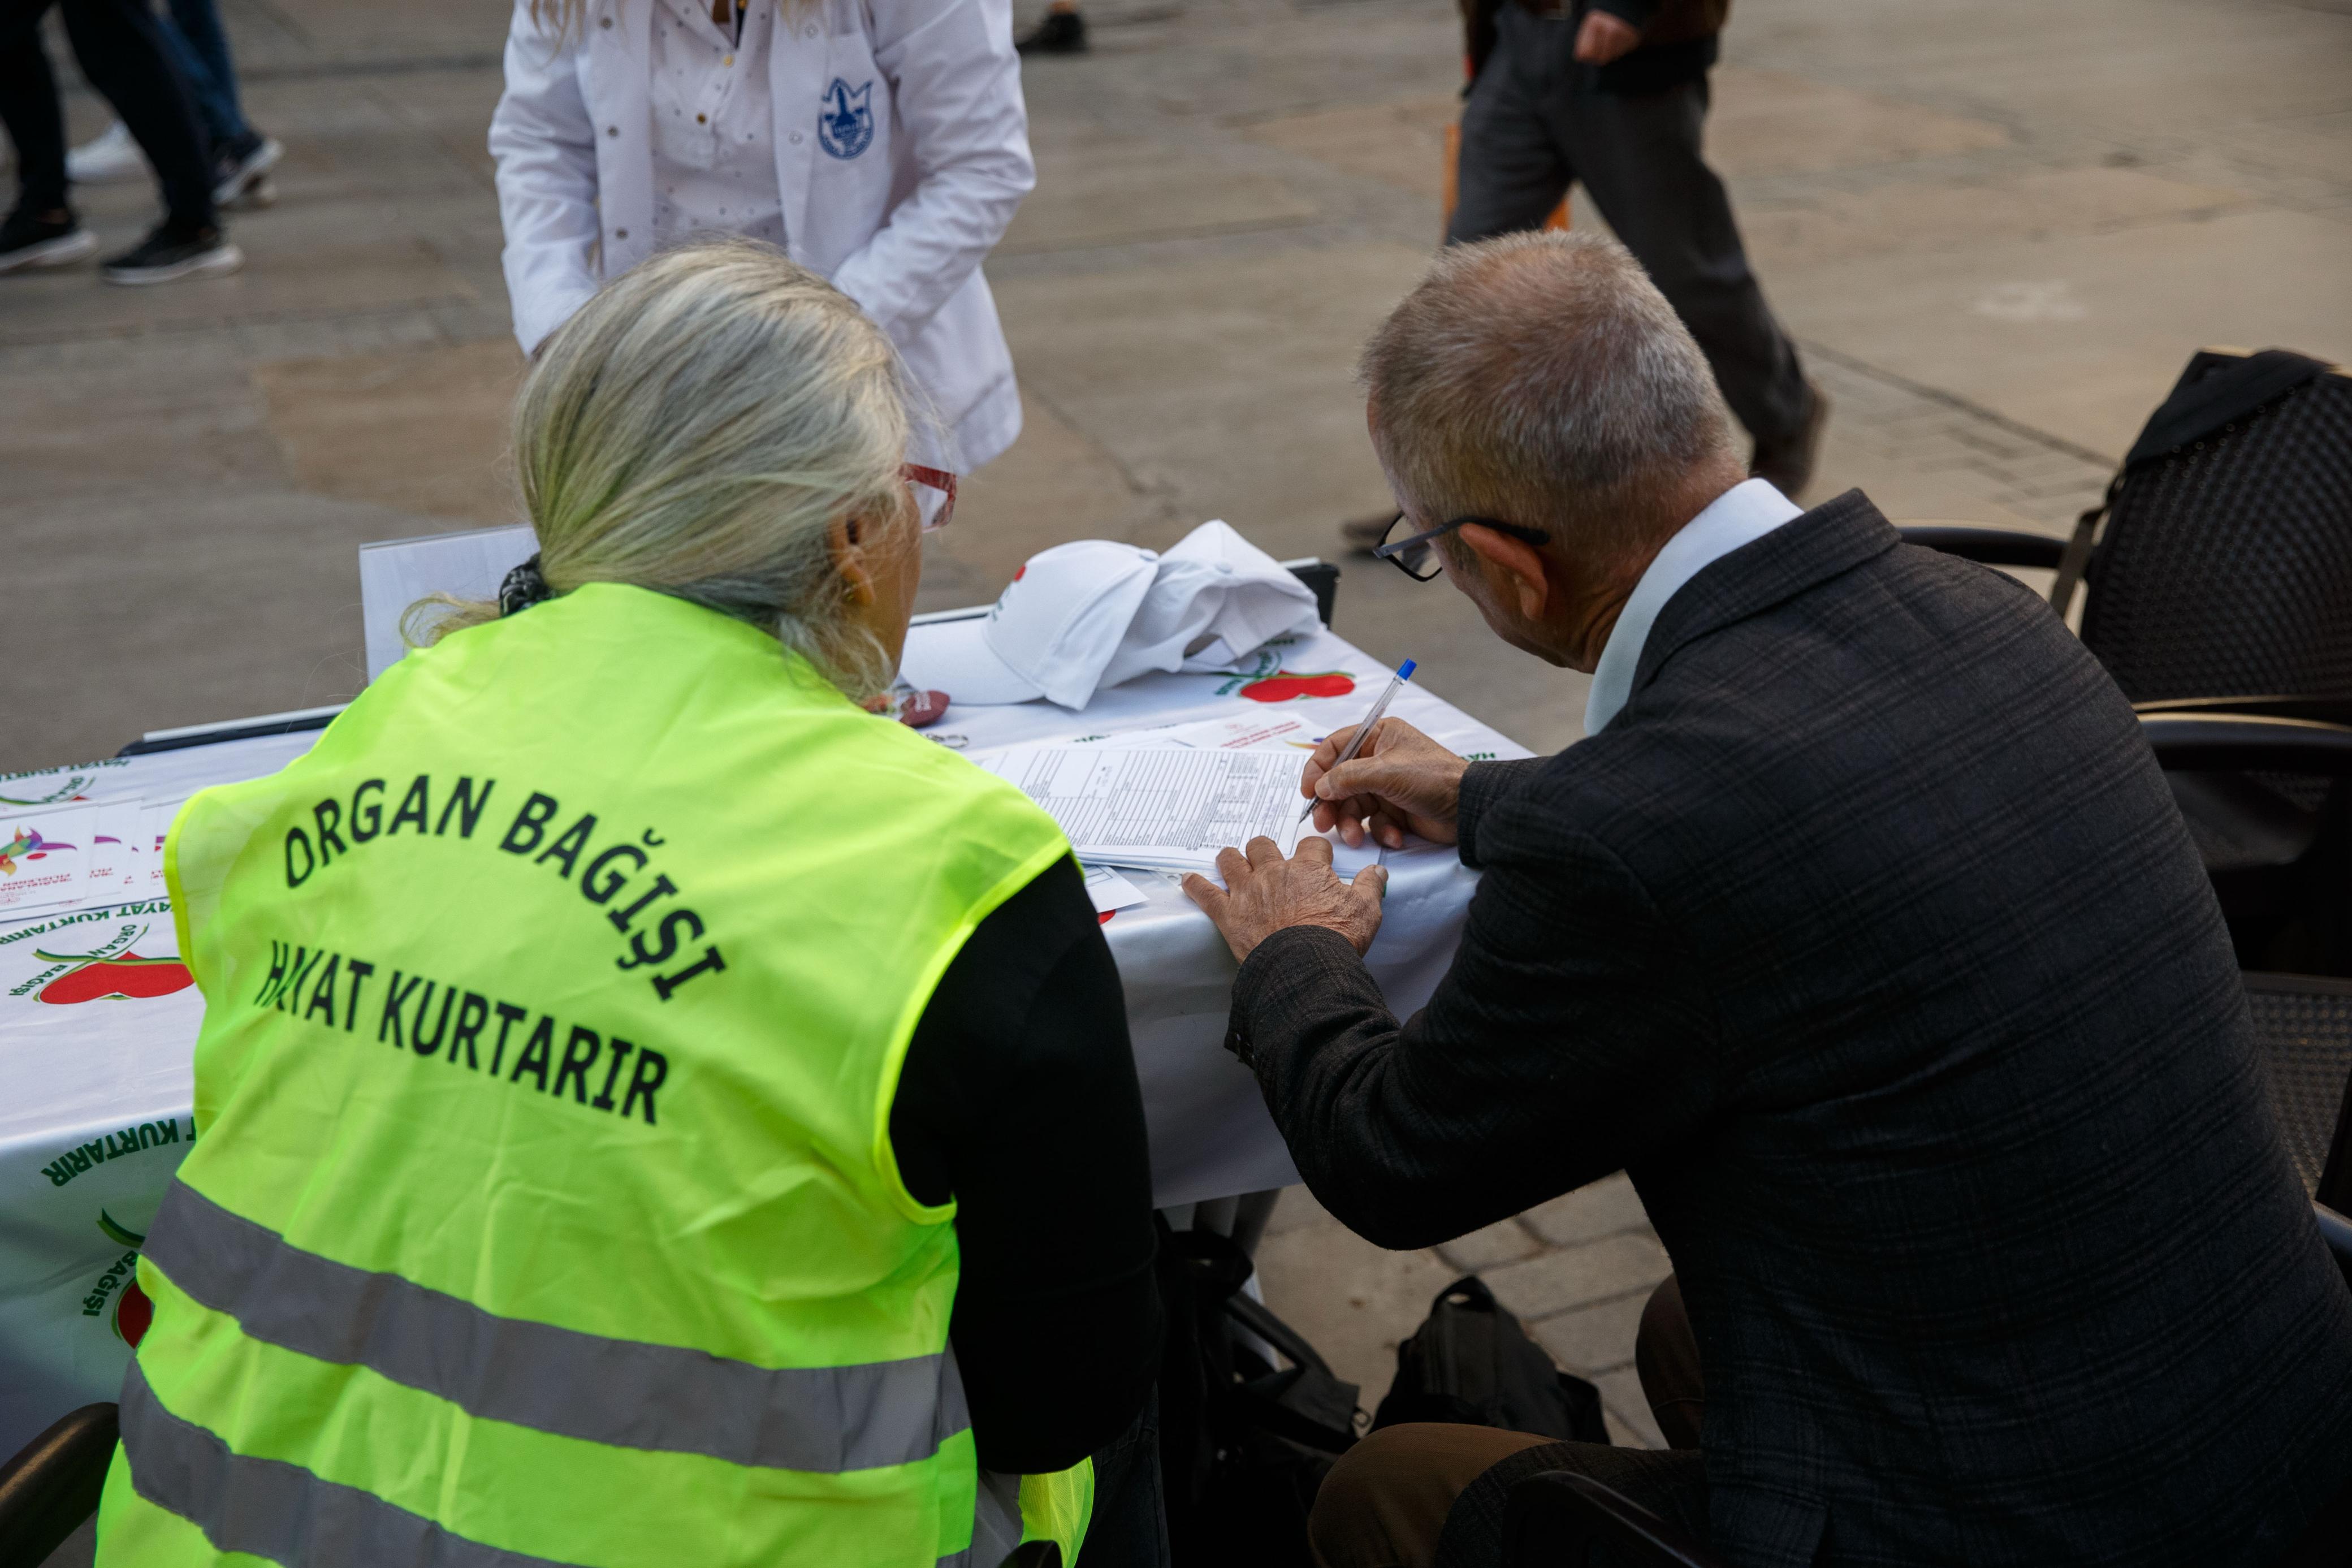
POLYGON ((1496 517, 1632 552, 1665 527, 1668 489, 1733 454, 1698 343, 1642 263, 1595 235, 1446 249, 1357 376, 1383 465, 1432 524, 1496 517))

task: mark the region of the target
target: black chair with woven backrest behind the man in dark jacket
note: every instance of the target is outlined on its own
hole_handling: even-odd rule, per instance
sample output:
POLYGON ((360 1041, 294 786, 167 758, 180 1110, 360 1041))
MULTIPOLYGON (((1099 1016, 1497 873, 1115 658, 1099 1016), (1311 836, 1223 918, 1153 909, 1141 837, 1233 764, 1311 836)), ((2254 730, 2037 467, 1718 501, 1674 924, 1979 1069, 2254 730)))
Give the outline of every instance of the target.
MULTIPOLYGON (((2072 538, 1929 524, 1910 543, 2056 571, 2143 712, 2352 722, 2352 376, 2201 350, 2072 538)), ((2352 785, 2300 769, 2173 776, 2239 964, 2352 976, 2352 785)))

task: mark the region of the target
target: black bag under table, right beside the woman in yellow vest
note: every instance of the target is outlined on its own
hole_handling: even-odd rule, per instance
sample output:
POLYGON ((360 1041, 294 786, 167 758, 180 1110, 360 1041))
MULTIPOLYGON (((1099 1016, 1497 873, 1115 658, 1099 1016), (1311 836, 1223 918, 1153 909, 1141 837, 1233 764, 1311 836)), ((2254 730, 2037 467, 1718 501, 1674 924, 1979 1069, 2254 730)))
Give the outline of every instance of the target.
POLYGON ((1242 1295, 1249 1272, 1230 1237, 1160 1222, 1160 1476, 1176 1568, 1308 1568, 1315 1490, 1355 1446, 1357 1387, 1242 1295))

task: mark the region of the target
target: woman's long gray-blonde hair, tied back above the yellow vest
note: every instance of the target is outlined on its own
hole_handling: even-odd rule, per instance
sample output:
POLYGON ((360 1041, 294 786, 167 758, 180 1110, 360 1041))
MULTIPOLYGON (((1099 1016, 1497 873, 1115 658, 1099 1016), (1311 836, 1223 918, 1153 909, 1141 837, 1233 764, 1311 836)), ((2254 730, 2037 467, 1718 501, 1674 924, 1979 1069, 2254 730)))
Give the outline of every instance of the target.
MULTIPOLYGON (((604 284, 546 341, 515 397, 515 468, 553 592, 635 583, 774 632, 849 696, 889 689, 844 614, 828 529, 889 520, 915 548, 901 477, 898 353, 847 294, 783 252, 713 240, 604 284)), ((426 599, 435 642, 496 604, 426 599)))

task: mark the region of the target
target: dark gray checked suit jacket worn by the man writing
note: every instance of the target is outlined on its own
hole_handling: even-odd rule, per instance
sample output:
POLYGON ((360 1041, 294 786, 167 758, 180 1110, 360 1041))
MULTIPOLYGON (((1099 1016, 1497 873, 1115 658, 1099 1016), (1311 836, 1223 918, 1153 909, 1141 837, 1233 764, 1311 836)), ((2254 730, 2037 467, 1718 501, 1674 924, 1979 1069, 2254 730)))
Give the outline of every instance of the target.
POLYGON ((1430 1246, 1618 1166, 1764 1563, 2270 1563, 2352 1476, 2352 1293, 2114 682, 1849 491, 1663 609, 1618 719, 1472 766, 1402 1027, 1331 931, 1235 1044, 1315 1197, 1430 1246))

